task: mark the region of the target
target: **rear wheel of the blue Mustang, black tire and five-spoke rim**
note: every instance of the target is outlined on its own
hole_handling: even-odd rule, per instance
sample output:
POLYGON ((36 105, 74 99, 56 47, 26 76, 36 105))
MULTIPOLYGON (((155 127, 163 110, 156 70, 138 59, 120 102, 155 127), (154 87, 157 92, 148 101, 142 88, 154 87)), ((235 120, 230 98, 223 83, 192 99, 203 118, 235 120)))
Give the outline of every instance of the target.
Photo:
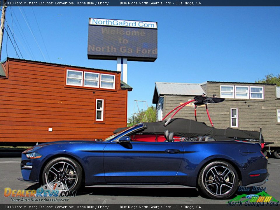
POLYGON ((199 190, 209 198, 226 199, 238 188, 238 175, 225 161, 214 161, 203 167, 198 178, 199 190))

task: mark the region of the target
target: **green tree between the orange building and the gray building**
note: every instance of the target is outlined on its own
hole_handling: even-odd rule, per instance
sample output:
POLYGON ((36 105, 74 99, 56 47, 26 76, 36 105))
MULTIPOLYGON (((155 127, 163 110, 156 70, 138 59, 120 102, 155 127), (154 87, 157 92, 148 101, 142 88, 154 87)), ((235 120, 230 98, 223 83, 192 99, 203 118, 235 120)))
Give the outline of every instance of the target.
POLYGON ((127 118, 127 126, 135 125, 139 122, 155 122, 156 121, 156 108, 152 105, 149 106, 145 111, 143 109, 136 113, 134 116, 133 114, 127 118))

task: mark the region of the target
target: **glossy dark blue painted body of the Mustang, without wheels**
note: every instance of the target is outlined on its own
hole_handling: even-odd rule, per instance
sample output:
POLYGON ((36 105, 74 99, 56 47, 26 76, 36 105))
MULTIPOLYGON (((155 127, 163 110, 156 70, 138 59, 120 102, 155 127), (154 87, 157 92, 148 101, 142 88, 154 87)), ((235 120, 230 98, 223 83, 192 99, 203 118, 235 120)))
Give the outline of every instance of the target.
MULTIPOLYGON (((143 125, 142 125, 143 127, 143 125)), ((142 128, 135 126, 121 135, 142 128)), ((40 182, 45 165, 54 157, 71 157, 83 168, 85 185, 94 184, 180 184, 197 186, 203 166, 225 160, 237 170, 242 185, 260 183, 268 176, 267 159, 259 144, 238 141, 124 142, 57 141, 34 146, 22 153, 22 177, 40 182), (28 159, 36 151, 41 158, 28 159), (32 165, 32 169, 23 169, 32 165), (260 174, 251 177, 252 174, 260 174)))

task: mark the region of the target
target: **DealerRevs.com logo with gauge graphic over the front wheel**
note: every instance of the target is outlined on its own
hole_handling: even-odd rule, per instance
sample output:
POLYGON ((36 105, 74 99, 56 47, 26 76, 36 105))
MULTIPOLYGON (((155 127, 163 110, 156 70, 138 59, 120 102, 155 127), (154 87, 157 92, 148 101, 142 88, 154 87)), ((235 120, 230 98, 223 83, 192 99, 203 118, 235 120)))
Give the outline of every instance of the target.
POLYGON ((66 190, 60 182, 43 185, 37 190, 4 189, 4 197, 11 197, 13 202, 67 202, 68 197, 75 197, 76 193, 76 191, 66 190))

